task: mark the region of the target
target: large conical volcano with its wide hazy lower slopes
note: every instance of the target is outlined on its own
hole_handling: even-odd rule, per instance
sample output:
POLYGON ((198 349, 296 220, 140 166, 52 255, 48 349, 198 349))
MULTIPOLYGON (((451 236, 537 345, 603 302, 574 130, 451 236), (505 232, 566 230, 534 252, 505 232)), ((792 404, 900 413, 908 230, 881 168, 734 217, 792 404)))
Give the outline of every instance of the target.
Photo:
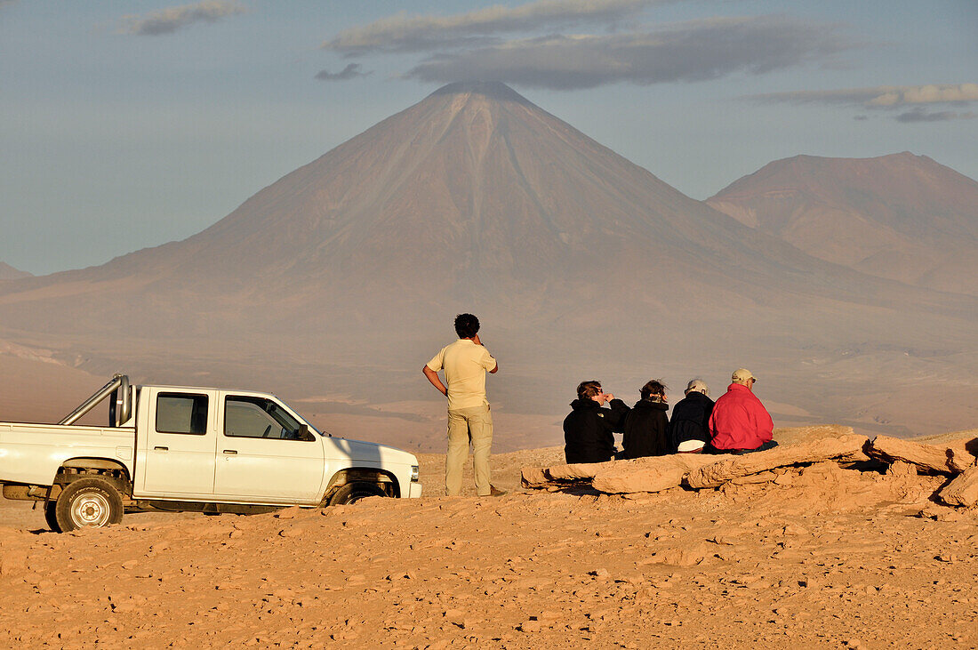
MULTIPOLYGON (((0 285, 0 337, 69 365, 278 389, 324 417, 426 430, 441 405, 419 369, 463 311, 509 368, 490 382, 498 412, 540 416, 551 436, 521 424, 511 440, 539 445, 581 379, 717 386, 740 366, 779 377, 790 412, 885 425, 844 391, 920 355, 954 357, 937 376, 968 367, 978 300, 748 227, 498 83, 435 91, 194 237, 0 285), (799 390, 830 381, 806 364, 836 363, 830 390, 799 390)), ((893 386, 872 389, 879 405, 893 386)))

